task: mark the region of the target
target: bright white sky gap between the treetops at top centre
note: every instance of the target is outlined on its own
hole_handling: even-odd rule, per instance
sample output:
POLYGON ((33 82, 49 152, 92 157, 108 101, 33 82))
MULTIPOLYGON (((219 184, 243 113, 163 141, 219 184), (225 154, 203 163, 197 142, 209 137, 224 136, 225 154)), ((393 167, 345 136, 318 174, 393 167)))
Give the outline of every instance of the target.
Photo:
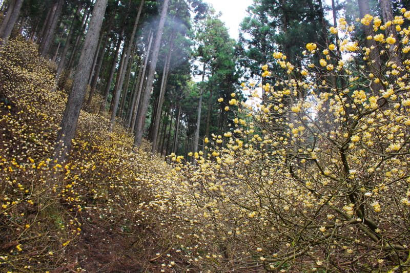
POLYGON ((253 0, 205 0, 204 2, 212 4, 217 13, 222 12, 220 19, 225 22, 231 37, 238 39, 239 24, 246 16, 246 9, 253 4, 253 0))

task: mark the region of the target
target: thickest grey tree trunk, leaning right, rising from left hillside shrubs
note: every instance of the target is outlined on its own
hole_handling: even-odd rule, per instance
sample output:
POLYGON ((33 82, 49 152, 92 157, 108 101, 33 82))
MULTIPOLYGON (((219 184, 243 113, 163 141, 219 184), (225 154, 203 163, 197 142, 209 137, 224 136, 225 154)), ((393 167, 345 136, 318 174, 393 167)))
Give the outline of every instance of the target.
POLYGON ((87 90, 87 80, 91 73, 92 58, 97 48, 98 37, 103 25, 103 19, 108 0, 96 0, 93 15, 87 31, 85 44, 81 51, 78 69, 75 73, 73 85, 68 97, 63 120, 61 120, 61 129, 57 134, 56 145, 54 149, 54 162, 63 163, 68 159, 71 152, 77 128, 78 117, 81 106, 83 105, 84 95, 87 90))

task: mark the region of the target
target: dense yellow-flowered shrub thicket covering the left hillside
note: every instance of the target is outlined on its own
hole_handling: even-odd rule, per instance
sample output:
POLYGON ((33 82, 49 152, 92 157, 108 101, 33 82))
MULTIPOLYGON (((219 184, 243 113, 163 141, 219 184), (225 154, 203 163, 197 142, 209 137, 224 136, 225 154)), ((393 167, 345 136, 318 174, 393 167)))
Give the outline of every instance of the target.
POLYGON ((108 141, 109 120, 88 112, 69 163, 52 164, 66 92, 22 39, 9 41, 0 62, 0 271, 147 267, 158 224, 149 215, 166 202, 170 167, 148 144, 133 152, 120 127, 108 141))

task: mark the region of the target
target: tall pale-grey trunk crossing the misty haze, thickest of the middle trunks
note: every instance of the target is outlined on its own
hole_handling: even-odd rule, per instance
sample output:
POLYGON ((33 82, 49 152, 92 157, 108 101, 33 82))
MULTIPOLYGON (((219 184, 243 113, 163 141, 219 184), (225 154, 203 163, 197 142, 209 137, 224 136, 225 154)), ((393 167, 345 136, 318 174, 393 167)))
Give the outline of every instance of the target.
POLYGON ((152 59, 151 59, 149 69, 148 69, 147 86, 142 96, 142 103, 140 107, 141 111, 139 111, 139 114, 138 114, 134 146, 139 146, 141 144, 142 135, 144 134, 144 125, 145 125, 145 120, 146 120, 146 116, 148 112, 148 102, 150 100, 151 88, 153 85, 155 68, 156 68, 157 61, 158 61, 159 48, 161 45, 163 26, 165 25, 165 19, 167 17, 167 12, 168 12, 168 5, 169 5, 169 0, 164 0, 163 5, 162 5, 161 16, 159 18, 158 30, 157 30, 157 34, 155 37, 155 44, 154 44, 154 50, 152 53, 152 59))

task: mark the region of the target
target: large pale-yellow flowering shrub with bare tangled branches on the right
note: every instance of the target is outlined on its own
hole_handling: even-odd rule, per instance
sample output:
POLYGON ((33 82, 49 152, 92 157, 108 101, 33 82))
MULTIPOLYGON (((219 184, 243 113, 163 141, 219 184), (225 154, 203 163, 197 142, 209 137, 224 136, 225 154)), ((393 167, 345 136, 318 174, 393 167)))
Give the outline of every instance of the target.
POLYGON ((410 30, 403 17, 380 22, 373 48, 339 20, 330 32, 344 35, 341 54, 311 43, 296 68, 274 53, 288 77, 264 66, 263 104, 242 104, 232 135, 215 136, 208 158, 193 155, 197 167, 179 166, 190 265, 178 270, 409 270, 410 30), (382 37, 392 24, 396 37, 382 37))

